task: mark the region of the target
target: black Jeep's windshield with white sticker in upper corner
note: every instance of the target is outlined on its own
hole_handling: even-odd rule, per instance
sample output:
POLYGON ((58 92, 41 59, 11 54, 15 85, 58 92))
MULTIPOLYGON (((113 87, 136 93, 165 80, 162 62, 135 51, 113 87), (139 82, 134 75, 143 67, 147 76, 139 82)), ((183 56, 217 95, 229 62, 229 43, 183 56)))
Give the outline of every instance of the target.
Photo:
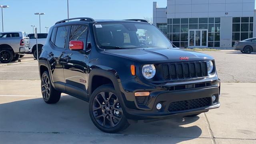
POLYGON ((96 41, 100 48, 172 48, 164 34, 151 24, 132 22, 95 24, 96 41))

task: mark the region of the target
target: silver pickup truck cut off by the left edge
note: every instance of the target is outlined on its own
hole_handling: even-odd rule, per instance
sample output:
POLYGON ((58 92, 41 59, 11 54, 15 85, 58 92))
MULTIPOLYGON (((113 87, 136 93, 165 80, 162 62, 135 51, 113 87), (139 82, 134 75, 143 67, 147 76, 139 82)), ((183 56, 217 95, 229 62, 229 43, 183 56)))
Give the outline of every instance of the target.
POLYGON ((30 40, 26 32, 0 32, 0 62, 8 63, 30 52, 30 40))

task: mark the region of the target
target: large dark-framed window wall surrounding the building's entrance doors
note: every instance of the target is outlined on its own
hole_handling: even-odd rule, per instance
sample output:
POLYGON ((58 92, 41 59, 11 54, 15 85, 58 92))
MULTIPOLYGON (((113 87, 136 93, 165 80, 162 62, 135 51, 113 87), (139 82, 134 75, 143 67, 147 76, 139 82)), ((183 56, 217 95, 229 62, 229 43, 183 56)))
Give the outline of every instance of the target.
POLYGON ((188 47, 188 41, 190 46, 206 47, 207 32, 208 47, 220 47, 220 18, 168 18, 166 30, 167 37, 177 47, 188 47), (199 39, 194 41, 196 38, 199 39))

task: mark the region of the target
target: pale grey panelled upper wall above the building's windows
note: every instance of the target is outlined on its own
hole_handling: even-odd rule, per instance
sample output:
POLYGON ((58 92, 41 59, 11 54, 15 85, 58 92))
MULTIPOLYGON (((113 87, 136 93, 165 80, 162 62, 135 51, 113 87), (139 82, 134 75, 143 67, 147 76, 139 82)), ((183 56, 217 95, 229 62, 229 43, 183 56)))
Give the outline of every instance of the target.
POLYGON ((167 18, 254 16, 254 3, 254 0, 167 0, 167 18))

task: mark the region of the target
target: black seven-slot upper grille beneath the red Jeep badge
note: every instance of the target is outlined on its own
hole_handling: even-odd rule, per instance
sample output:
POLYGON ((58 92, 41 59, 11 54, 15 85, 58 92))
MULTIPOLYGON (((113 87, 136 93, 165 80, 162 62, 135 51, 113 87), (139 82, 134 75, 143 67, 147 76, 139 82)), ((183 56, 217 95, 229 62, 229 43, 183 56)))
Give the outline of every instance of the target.
POLYGON ((205 61, 163 64, 163 75, 165 80, 206 77, 207 65, 205 61))

